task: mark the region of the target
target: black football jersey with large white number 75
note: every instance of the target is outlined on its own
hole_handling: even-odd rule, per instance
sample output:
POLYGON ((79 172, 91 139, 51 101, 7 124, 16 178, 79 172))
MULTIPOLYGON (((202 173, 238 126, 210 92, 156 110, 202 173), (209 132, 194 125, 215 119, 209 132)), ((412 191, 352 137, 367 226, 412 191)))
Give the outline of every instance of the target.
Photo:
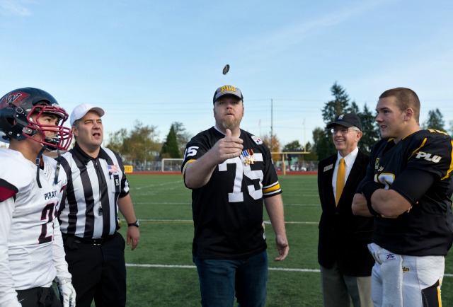
MULTIPOLYGON (((193 137, 185 149, 183 174, 223 137, 215 127, 193 137)), ((266 248, 263 197, 282 191, 268 147, 242 129, 240 138, 242 155, 219 164, 209 182, 192 191, 193 255, 202 259, 248 257, 266 248)))

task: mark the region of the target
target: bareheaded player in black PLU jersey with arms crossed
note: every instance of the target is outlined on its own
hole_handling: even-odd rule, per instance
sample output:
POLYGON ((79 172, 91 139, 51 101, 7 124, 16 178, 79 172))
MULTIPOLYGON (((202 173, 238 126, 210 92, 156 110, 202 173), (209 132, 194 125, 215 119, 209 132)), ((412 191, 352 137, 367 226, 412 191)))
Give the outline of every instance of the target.
POLYGON ((453 241, 452 138, 420 129, 420 100, 409 88, 385 91, 376 110, 382 139, 352 203, 355 214, 376 216, 374 306, 441 306, 453 241))

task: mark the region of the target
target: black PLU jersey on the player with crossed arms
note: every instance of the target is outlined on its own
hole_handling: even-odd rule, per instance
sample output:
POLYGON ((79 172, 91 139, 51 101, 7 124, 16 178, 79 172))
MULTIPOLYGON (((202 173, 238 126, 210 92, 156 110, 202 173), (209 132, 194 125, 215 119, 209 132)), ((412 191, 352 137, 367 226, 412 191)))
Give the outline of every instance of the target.
POLYGON ((413 205, 400 216, 378 216, 373 242, 401 255, 446 255, 453 241, 452 138, 420 130, 372 148, 365 180, 392 189, 413 205))

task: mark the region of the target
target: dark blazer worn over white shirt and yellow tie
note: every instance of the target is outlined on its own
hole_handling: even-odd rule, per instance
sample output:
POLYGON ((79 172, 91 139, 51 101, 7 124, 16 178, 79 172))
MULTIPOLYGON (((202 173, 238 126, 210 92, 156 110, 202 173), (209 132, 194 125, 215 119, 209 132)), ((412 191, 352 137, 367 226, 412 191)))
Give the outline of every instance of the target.
POLYGON ((319 221, 318 262, 326 268, 338 263, 340 272, 349 276, 371 275, 374 259, 367 243, 371 243, 374 218, 355 216, 351 204, 357 185, 365 177, 369 156, 359 150, 335 206, 332 175, 337 154, 319 162, 318 190, 323 212, 319 221))

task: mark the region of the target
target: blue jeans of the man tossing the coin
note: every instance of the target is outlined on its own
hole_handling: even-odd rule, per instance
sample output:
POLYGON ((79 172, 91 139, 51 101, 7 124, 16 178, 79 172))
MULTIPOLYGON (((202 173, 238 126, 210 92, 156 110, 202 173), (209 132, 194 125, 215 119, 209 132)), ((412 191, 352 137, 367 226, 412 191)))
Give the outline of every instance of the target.
POLYGON ((268 253, 239 260, 193 257, 200 279, 202 306, 264 306, 268 294, 268 253))

